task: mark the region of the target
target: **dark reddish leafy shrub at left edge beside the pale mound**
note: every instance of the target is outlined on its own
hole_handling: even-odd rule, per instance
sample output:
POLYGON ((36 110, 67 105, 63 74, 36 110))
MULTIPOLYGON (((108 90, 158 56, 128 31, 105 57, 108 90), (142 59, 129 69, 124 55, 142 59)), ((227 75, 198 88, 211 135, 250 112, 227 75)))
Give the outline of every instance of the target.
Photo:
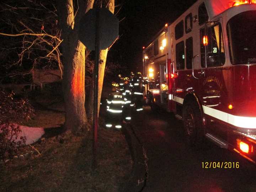
POLYGON ((17 124, 34 115, 34 109, 27 99, 16 99, 15 93, 0 89, 0 159, 12 158, 25 145, 26 138, 18 138, 21 129, 17 124), (18 140, 17 140, 18 139, 18 140))

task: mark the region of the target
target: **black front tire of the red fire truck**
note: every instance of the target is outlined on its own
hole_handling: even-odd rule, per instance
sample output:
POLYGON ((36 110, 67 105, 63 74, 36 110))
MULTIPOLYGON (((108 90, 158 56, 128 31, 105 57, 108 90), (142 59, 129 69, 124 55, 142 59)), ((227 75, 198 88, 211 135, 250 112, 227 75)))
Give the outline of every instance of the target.
POLYGON ((185 103, 182 112, 182 119, 187 143, 191 146, 202 146, 203 122, 196 102, 188 101, 185 103))

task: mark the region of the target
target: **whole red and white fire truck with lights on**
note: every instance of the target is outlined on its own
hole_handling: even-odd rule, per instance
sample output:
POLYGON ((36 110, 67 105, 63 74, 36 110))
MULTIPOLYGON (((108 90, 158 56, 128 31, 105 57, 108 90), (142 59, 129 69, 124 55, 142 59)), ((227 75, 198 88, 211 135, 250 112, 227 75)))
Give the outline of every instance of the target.
POLYGON ((198 0, 143 50, 151 110, 256 162, 256 0, 198 0))

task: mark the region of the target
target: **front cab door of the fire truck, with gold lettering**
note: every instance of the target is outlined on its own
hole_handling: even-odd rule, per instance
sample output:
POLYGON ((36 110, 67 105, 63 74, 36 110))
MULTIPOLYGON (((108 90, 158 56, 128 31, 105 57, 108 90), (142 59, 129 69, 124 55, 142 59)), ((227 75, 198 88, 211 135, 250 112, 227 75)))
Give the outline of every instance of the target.
POLYGON ((203 68, 203 104, 218 108, 220 92, 223 87, 223 73, 220 66, 225 63, 222 27, 220 23, 208 25, 201 30, 201 37, 206 36, 207 42, 201 45, 201 65, 203 68), (206 34, 206 35, 205 35, 206 34))

